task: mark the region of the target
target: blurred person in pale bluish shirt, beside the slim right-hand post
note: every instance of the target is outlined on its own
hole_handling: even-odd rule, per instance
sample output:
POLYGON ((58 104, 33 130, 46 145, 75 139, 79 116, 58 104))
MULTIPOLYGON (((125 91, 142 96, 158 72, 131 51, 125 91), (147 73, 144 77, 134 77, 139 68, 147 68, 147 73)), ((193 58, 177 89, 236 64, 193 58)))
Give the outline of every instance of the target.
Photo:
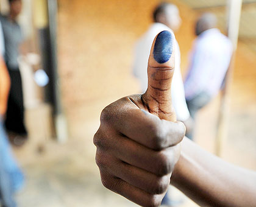
MULTIPOLYGON (((233 49, 232 43, 216 29, 217 19, 205 13, 196 22, 190 66, 184 88, 188 110, 193 119, 202 107, 218 94, 229 68, 233 49)), ((193 138, 193 131, 187 132, 193 138)))

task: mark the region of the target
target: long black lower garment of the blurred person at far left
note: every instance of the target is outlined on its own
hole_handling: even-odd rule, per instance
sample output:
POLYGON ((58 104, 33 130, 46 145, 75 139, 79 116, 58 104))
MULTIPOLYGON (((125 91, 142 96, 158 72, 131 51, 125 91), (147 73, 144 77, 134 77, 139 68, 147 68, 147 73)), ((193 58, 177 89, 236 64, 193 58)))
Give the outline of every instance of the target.
POLYGON ((11 80, 10 94, 8 99, 5 127, 7 132, 27 136, 24 125, 23 89, 20 70, 8 69, 11 80))

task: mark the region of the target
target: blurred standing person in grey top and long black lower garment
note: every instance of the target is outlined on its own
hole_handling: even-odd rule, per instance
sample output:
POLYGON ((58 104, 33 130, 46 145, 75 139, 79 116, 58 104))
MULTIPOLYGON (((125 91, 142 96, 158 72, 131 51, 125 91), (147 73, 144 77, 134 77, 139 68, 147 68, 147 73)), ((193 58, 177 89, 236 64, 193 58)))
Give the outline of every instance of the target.
POLYGON ((11 80, 5 128, 9 133, 10 141, 16 146, 20 146, 27 139, 27 130, 24 124, 23 87, 18 63, 19 46, 23 41, 23 34, 16 21, 21 12, 22 2, 21 0, 9 0, 9 4, 9 15, 0 18, 5 43, 4 60, 11 80))

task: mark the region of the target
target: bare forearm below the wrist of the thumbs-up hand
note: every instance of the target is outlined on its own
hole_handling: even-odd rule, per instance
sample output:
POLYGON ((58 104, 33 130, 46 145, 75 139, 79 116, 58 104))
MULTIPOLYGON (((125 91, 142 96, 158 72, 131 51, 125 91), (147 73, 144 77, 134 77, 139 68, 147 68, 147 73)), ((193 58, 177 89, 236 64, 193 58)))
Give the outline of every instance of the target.
POLYGON ((171 183, 201 206, 256 206, 256 174, 185 138, 171 183))

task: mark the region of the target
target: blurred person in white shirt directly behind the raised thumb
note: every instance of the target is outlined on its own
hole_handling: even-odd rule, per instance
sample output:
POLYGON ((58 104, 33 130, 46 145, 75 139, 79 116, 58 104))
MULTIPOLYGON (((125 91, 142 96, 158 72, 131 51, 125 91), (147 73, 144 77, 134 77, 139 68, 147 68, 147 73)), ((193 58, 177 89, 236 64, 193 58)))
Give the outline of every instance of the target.
MULTIPOLYGON (((151 50, 152 41, 155 36, 163 30, 170 32, 176 32, 179 30, 181 24, 181 18, 179 15, 179 9, 176 5, 170 3, 159 4, 153 12, 154 23, 144 33, 144 35, 137 41, 135 46, 135 61, 133 63, 133 74, 140 80, 141 91, 144 93, 148 88, 148 57, 151 50)), ((177 120, 184 122, 187 130, 190 130, 191 118, 187 108, 185 93, 183 88, 182 75, 180 73, 180 49, 179 44, 175 43, 176 60, 175 60, 175 72, 172 86, 175 91, 172 91, 172 99, 174 110, 177 114, 177 120)), ((166 194, 163 204, 173 205, 166 194)))

